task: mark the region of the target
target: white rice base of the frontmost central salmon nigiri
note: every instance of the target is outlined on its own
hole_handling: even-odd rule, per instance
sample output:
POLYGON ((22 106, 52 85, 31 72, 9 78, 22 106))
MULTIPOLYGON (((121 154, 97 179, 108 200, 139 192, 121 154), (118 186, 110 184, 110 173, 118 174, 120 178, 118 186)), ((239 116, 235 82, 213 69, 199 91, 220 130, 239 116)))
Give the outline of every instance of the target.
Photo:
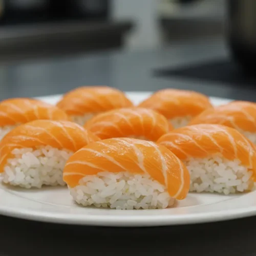
POLYGON ((165 186, 149 175, 129 172, 90 175, 70 189, 71 196, 83 206, 110 207, 112 209, 156 209, 172 206, 165 186))

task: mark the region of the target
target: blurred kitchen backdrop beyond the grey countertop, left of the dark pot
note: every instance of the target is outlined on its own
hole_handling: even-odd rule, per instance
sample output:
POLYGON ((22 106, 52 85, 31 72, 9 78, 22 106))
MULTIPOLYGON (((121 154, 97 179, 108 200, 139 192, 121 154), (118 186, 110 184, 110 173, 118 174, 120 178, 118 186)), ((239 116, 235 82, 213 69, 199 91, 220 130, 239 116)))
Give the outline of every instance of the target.
POLYGON ((0 0, 0 59, 161 47, 223 34, 224 0, 0 0))

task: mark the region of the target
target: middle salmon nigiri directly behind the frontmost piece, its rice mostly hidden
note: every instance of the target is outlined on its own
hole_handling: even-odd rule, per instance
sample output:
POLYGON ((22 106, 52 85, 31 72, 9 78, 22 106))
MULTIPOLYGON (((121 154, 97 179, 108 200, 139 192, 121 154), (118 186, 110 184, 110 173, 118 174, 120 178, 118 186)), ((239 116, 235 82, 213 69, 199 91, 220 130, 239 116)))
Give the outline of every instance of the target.
POLYGON ((133 137, 156 141, 173 129, 168 120, 154 110, 123 108, 104 112, 84 125, 101 139, 133 137))

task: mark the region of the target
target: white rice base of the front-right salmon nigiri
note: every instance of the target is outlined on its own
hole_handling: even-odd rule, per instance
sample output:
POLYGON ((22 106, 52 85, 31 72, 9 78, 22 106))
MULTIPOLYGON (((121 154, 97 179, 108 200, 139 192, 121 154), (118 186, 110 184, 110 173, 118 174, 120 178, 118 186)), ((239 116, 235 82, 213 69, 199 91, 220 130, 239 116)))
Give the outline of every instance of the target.
POLYGON ((207 158, 190 158, 185 165, 190 173, 190 191, 198 193, 230 193, 253 190, 252 170, 240 160, 227 160, 219 155, 207 158))

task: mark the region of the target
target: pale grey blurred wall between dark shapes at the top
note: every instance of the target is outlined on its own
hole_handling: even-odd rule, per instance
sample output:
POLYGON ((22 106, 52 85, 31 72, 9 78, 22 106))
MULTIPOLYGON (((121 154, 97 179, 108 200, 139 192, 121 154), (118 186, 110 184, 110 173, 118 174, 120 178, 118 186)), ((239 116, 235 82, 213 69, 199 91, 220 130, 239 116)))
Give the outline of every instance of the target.
MULTIPOLYGON (((242 0, 241 0, 242 1, 242 0)), ((255 0, 256 1, 256 0, 255 0)), ((128 49, 151 48, 163 42, 161 30, 158 28, 159 4, 163 0, 112 0, 112 17, 114 19, 131 19, 136 28, 127 35, 128 49)), ((190 7, 174 8, 172 5, 162 6, 161 13, 170 17, 210 17, 223 16, 224 0, 204 0, 190 7)), ((175 33, 175 32, 174 32, 175 33)), ((185 33, 185 32, 184 32, 185 33)))

